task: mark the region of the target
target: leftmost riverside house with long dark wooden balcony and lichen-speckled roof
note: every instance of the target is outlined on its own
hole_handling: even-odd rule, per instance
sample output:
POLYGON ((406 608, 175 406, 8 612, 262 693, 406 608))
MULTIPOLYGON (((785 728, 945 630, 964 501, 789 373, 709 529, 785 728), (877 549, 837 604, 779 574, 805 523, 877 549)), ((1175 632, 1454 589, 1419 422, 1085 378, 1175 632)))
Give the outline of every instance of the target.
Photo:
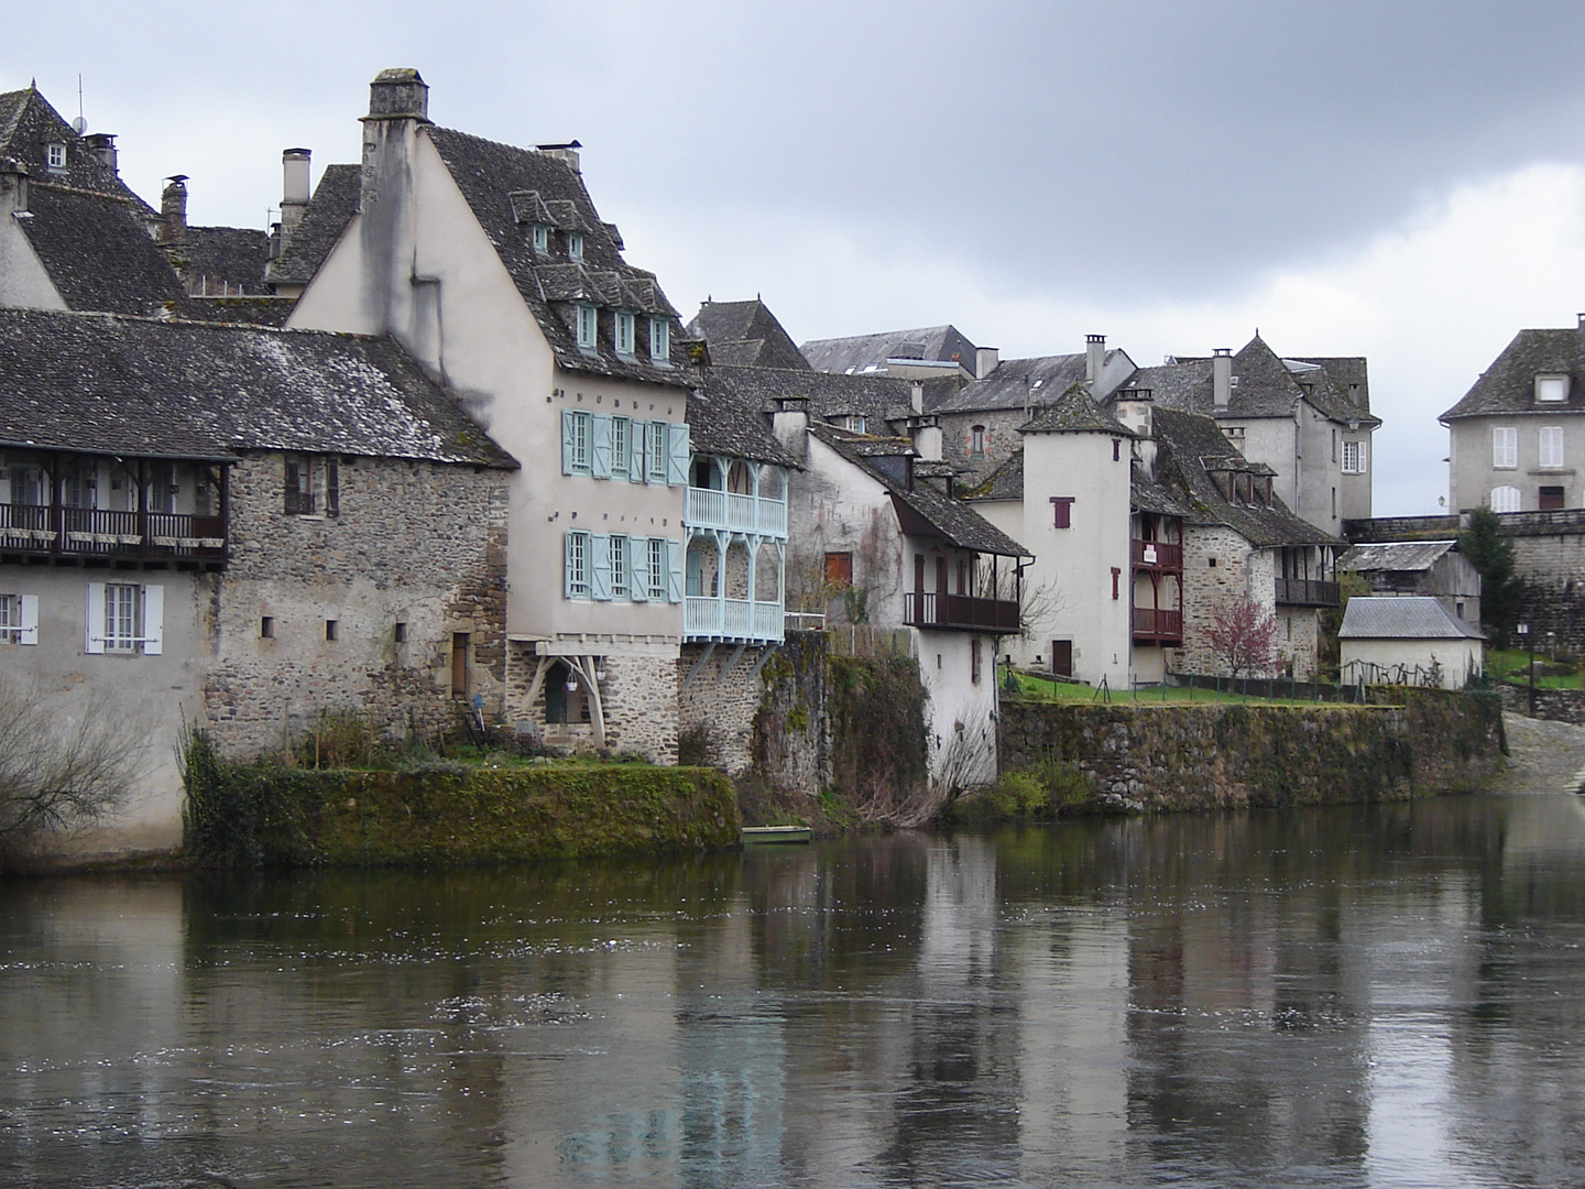
POLYGON ((149 744, 97 850, 181 840, 184 723, 498 713, 515 463, 395 342, 0 311, 0 666, 149 744))

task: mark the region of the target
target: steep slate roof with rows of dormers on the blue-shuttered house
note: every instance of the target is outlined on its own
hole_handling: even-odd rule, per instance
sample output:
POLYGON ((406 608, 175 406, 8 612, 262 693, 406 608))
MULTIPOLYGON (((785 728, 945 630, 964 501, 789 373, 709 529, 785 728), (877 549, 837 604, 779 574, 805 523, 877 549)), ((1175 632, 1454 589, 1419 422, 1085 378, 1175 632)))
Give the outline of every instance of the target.
POLYGON ((621 258, 621 238, 612 224, 601 220, 583 178, 564 160, 537 149, 518 149, 450 128, 422 125, 452 179, 461 190, 480 228, 495 244, 518 292, 534 312, 556 363, 571 371, 626 376, 656 384, 686 385, 691 374, 677 311, 666 300, 653 273, 621 258), (529 193, 534 200, 529 200, 529 193), (533 220, 536 203, 544 205, 552 225, 583 228, 583 260, 571 262, 534 252, 533 220), (601 306, 621 308, 664 317, 670 322, 670 363, 658 366, 640 350, 632 358, 617 355, 609 327, 593 350, 580 350, 574 328, 574 301, 583 298, 601 306))

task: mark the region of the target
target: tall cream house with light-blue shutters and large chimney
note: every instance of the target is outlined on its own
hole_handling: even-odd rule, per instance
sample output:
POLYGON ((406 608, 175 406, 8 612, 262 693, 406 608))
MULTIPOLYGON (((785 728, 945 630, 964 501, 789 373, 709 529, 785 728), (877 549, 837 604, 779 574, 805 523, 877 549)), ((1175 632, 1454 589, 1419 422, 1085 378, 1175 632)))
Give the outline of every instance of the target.
MULTIPOLYGON (((412 70, 371 84, 357 206, 334 189, 322 217, 322 181, 304 209, 293 243, 331 246, 287 325, 391 335, 525 463, 507 717, 552 742, 674 761, 697 382, 682 325, 655 276, 623 260, 577 144, 441 128, 428 101, 412 70)), ((290 255, 277 285, 303 277, 290 255)))

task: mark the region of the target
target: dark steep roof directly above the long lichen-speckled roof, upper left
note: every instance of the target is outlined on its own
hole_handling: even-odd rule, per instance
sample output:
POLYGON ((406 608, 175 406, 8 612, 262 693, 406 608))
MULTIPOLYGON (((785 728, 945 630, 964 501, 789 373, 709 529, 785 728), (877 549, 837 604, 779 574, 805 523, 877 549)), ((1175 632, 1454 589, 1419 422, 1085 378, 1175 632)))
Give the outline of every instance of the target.
POLYGON ((22 235, 70 309, 181 312, 185 292, 136 208, 119 197, 29 184, 22 235))

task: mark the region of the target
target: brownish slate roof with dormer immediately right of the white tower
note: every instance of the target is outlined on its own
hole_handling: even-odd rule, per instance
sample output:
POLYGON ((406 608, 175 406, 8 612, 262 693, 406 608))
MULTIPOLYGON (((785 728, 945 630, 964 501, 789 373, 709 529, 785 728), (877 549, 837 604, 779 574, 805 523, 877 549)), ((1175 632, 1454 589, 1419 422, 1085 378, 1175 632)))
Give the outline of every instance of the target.
POLYGON ((1225 525, 1258 549, 1276 545, 1341 545, 1308 520, 1293 515, 1276 496, 1271 504, 1233 503, 1225 488, 1227 471, 1268 476, 1271 468, 1251 463, 1203 414, 1155 409, 1155 480, 1190 510, 1195 525, 1225 525))

